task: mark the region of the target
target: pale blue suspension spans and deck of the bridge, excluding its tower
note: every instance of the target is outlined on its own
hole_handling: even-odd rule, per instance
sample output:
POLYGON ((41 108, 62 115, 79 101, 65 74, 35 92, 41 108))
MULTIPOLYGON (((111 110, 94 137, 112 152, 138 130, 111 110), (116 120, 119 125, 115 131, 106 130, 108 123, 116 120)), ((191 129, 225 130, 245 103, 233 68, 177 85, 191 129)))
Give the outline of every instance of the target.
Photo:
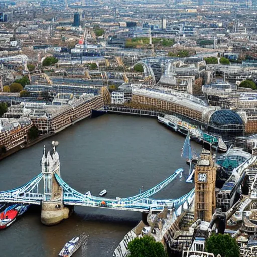
MULTIPOLYGON (((108 199, 104 197, 97 197, 91 195, 90 192, 82 194, 75 189, 71 188, 62 178, 54 173, 57 183, 63 189, 63 204, 65 205, 80 205, 91 207, 104 207, 117 210, 128 210, 148 213, 152 210, 162 210, 164 206, 168 208, 179 208, 181 205, 187 202, 187 199, 194 194, 194 190, 191 190, 186 195, 178 199, 151 199, 150 196, 156 194, 169 183, 171 183, 179 174, 183 172, 183 169, 176 170, 170 177, 156 185, 155 187, 132 197, 108 199), (105 202, 103 205, 102 202, 105 202)), ((30 180, 25 185, 0 192, 0 202, 8 203, 23 203, 23 204, 37 204, 40 205, 44 199, 44 194, 38 192, 38 185, 43 178, 43 174, 40 173, 35 178, 30 180)))

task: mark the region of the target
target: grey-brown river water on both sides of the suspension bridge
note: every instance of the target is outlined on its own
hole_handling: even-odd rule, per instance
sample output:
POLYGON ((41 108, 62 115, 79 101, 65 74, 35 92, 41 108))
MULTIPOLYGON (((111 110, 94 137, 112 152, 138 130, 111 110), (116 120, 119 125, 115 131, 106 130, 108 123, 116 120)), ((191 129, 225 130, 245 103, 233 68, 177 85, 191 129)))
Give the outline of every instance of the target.
MULTIPOLYGON (((0 191, 28 182, 41 172, 43 146, 59 141, 61 177, 81 193, 98 195, 107 190, 108 198, 127 197, 147 190, 184 168, 181 158, 185 138, 172 132, 156 119, 104 115, 85 119, 40 143, 0 162, 0 191)), ((192 142, 197 152, 201 146, 192 142)), ((175 179, 155 198, 178 198, 192 189, 185 178, 175 179)), ((141 213, 103 208, 74 207, 74 214, 59 225, 47 227, 40 212, 29 211, 11 227, 0 231, 1 257, 54 257, 63 245, 81 232, 88 244, 75 257, 112 256, 115 247, 141 220, 141 213)))

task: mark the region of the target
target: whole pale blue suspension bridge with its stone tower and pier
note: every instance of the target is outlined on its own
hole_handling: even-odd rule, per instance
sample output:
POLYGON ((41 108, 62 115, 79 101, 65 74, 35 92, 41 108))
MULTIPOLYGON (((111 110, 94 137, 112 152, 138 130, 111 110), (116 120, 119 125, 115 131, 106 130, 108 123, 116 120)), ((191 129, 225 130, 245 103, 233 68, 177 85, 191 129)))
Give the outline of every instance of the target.
POLYGON ((41 173, 25 185, 0 192, 0 202, 36 204, 41 205, 41 221, 46 225, 59 223, 62 219, 69 217, 70 208, 75 205, 108 208, 116 210, 138 211, 149 213, 151 211, 161 212, 165 206, 171 210, 178 210, 187 204, 188 199, 194 195, 194 189, 178 199, 151 199, 150 197, 169 183, 171 183, 183 169, 176 170, 167 179, 153 188, 138 195, 116 199, 93 196, 90 191, 82 194, 71 188, 60 174, 59 154, 56 151, 58 142, 52 142, 53 148, 46 151, 44 147, 41 159, 41 173), (43 180, 43 192, 39 190, 39 183, 43 180))

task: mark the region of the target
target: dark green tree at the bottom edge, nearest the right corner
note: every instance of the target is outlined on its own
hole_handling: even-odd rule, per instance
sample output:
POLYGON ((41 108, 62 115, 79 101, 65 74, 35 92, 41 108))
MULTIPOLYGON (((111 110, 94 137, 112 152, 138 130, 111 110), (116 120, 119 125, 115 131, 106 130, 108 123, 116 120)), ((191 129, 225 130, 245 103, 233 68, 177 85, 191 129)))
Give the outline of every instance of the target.
POLYGON ((212 234, 205 244, 205 251, 213 253, 215 256, 220 254, 222 257, 239 257, 240 250, 237 242, 230 235, 212 234))

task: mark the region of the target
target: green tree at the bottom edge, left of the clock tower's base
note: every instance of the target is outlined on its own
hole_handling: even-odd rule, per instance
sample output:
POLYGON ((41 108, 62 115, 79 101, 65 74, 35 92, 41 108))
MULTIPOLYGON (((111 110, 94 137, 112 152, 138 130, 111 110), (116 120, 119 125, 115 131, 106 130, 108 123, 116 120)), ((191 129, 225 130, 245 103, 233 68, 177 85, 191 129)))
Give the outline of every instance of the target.
MULTIPOLYGON (((151 236, 135 238, 129 242, 131 257, 167 257, 164 246, 151 236)), ((223 257, 223 256, 222 256, 223 257)))

